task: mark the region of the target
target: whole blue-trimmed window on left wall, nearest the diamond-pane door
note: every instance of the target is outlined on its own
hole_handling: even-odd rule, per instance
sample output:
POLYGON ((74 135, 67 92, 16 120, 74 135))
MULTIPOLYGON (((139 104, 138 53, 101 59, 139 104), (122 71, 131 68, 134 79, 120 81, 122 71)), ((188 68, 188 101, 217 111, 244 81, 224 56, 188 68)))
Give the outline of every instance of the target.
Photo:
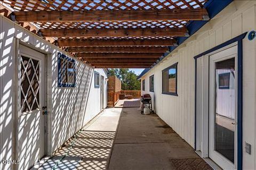
POLYGON ((59 87, 76 87, 75 60, 58 53, 59 87))

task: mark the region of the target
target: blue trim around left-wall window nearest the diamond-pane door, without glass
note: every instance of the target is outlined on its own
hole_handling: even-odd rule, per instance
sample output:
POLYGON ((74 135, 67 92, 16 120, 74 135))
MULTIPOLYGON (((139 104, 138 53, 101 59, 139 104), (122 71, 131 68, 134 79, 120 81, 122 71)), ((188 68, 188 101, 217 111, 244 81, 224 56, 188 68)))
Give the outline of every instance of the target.
POLYGON ((68 57, 64 54, 61 54, 60 52, 58 52, 58 87, 76 87, 76 62, 73 58, 68 57), (74 79, 75 80, 74 81, 75 81, 75 83, 62 83, 61 82, 61 66, 60 66, 61 58, 67 60, 68 62, 74 63, 74 69, 75 69, 75 71, 74 71, 74 74, 75 74, 74 79))

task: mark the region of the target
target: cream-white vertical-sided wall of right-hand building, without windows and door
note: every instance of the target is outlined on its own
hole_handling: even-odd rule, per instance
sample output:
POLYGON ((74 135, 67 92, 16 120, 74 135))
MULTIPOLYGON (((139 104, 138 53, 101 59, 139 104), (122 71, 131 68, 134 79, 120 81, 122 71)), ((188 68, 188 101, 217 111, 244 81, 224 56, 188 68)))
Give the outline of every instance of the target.
MULTIPOLYGON (((234 1, 189 37, 169 56, 141 78, 150 94, 149 77, 154 74, 156 113, 192 147, 195 142, 195 60, 201 54, 225 41, 256 29, 255 1, 234 1), (178 96, 162 94, 162 70, 178 62, 178 96)), ((255 39, 243 39, 243 168, 255 169, 255 39), (245 152, 245 141, 252 154, 245 152)))

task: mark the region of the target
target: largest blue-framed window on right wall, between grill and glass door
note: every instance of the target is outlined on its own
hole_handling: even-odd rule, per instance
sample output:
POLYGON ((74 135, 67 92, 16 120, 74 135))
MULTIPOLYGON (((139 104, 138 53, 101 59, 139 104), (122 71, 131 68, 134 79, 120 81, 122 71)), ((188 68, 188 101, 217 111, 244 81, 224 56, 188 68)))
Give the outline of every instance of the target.
POLYGON ((162 71, 162 93, 178 96, 177 94, 177 65, 173 64, 162 71))

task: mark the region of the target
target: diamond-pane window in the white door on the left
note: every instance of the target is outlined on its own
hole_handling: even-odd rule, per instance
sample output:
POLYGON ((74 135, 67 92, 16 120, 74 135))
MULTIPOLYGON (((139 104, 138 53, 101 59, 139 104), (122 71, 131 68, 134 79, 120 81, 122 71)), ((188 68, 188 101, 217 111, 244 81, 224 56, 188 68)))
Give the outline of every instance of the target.
POLYGON ((40 73, 39 61, 21 56, 21 113, 39 109, 40 73))

